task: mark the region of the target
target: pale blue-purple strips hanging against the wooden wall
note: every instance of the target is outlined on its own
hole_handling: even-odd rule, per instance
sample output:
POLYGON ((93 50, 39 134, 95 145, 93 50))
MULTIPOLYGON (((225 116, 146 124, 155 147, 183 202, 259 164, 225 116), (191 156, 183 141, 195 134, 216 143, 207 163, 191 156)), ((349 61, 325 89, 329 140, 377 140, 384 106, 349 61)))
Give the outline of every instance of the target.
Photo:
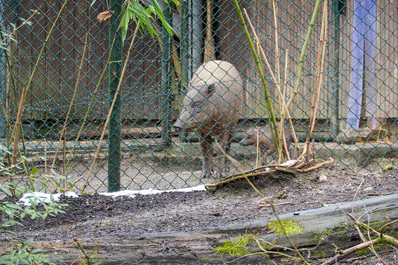
POLYGON ((346 128, 359 128, 363 89, 365 89, 364 109, 366 117, 370 117, 372 121, 371 126, 375 128, 377 126, 377 119, 375 117, 376 1, 354 1, 354 29, 351 45, 351 86, 346 128))

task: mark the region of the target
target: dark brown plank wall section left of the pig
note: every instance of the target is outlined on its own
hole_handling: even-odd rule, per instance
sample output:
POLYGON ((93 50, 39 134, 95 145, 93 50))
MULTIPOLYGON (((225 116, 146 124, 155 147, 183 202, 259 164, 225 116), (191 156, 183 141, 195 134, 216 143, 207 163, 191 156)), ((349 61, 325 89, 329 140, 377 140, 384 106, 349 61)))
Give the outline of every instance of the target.
MULTIPOLYGON (((31 119, 58 119, 65 117, 84 47, 85 34, 89 33, 89 45, 81 87, 71 112, 71 118, 81 120, 87 112, 88 102, 106 65, 109 50, 109 26, 99 23, 98 13, 104 7, 95 7, 88 13, 90 1, 71 1, 67 4, 60 20, 49 39, 39 68, 34 77, 24 108, 26 117, 31 119)), ((39 9, 31 27, 25 26, 18 34, 15 57, 17 65, 18 96, 28 83, 42 42, 51 28, 62 3, 59 1, 22 1, 19 17, 26 18, 30 9, 39 9)), ((134 27, 134 24, 131 24, 134 27)), ((132 37, 129 32, 126 42, 132 37)), ((126 55, 127 47, 123 50, 126 55)), ((158 42, 150 36, 138 33, 132 51, 130 65, 121 89, 122 112, 125 119, 159 119, 161 114, 160 91, 160 49, 158 42)), ((89 113, 90 120, 104 119, 108 114, 108 71, 103 77, 89 113)), ((19 98, 19 97, 18 97, 19 98)), ((13 108, 12 114, 16 114, 13 108)))

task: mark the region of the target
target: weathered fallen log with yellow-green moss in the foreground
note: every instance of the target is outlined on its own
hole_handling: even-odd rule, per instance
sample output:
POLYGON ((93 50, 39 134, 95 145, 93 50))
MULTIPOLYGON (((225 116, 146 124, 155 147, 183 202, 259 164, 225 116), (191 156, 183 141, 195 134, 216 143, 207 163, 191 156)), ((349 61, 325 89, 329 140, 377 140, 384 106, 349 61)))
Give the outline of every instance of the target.
MULTIPOLYGON (((351 202, 334 204, 299 211, 298 214, 284 214, 279 218, 285 224, 290 239, 298 248, 313 247, 321 238, 327 239, 312 251, 313 256, 326 257, 334 253, 335 247, 332 243, 343 249, 359 243, 358 239, 349 239, 353 226, 350 219, 343 213, 343 211, 351 213, 352 206, 351 202)), ((356 217, 374 208, 377 209, 369 213, 371 224, 380 227, 384 221, 397 219, 398 194, 358 200, 354 202, 353 207, 356 217)), ((367 216, 363 218, 366 218, 363 221, 367 222, 367 216)), ((228 253, 221 256, 215 251, 216 247, 219 247, 216 249, 218 252, 230 251, 232 254, 253 253, 260 250, 251 240, 251 236, 246 234, 280 246, 291 247, 276 224, 278 223, 275 219, 260 218, 251 222, 235 223, 227 227, 191 233, 119 233, 107 237, 82 238, 78 241, 88 253, 97 248, 99 257, 106 259, 104 264, 220 264, 222 261, 231 261, 238 256, 231 256, 228 253), (272 227, 275 228, 271 229, 272 227), (247 241, 239 240, 242 236, 247 241)), ((42 252, 48 254, 56 264, 70 264, 82 255, 73 240, 34 242, 32 247, 41 248, 42 252)), ((265 244, 264 247, 268 246, 265 244)), ((6 243, 2 242, 0 251, 3 252, 6 249, 6 243)), ((303 253, 307 255, 306 252, 303 253)), ((234 264, 264 263, 265 258, 265 255, 254 255, 240 259, 234 264)))

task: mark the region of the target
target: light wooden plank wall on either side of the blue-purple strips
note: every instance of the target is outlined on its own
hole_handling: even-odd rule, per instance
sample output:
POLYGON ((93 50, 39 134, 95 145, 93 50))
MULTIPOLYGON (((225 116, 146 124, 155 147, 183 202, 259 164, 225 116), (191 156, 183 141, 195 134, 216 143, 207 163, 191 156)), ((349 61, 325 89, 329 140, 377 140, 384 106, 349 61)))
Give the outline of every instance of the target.
MULTIPOLYGON (((398 1, 376 1, 376 116, 379 119, 398 117, 398 1)), ((340 19, 340 58, 342 62, 340 79, 341 118, 347 114, 348 93, 350 90, 351 41, 353 31, 354 1, 347 1, 347 9, 340 19)))

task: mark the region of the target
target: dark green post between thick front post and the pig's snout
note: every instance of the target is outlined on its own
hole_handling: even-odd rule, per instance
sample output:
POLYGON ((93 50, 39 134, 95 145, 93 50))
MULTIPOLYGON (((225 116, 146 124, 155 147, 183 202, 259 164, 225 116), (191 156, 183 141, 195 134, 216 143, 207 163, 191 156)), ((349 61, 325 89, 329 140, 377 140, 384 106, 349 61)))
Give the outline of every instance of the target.
MULTIPOLYGON (((170 9, 164 5, 164 16, 167 22, 172 26, 172 16, 170 9)), ((171 141, 171 110, 173 92, 171 89, 171 36, 162 27, 162 91, 163 91, 163 117, 162 117, 162 141, 161 147, 169 147, 171 141)))

